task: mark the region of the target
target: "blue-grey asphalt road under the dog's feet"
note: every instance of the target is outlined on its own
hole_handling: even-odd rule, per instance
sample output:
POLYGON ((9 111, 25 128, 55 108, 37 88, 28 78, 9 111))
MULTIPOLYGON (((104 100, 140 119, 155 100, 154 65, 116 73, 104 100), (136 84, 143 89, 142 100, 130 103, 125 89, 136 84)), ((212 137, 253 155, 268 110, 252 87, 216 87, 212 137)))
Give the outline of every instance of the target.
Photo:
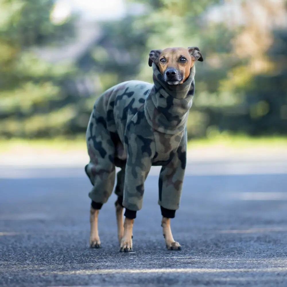
POLYGON ((120 253, 115 195, 99 216, 102 248, 88 248, 82 169, 2 169, 0 286, 287 286, 287 173, 201 173, 185 177, 172 220, 182 251, 165 249, 151 175, 133 252, 120 253))

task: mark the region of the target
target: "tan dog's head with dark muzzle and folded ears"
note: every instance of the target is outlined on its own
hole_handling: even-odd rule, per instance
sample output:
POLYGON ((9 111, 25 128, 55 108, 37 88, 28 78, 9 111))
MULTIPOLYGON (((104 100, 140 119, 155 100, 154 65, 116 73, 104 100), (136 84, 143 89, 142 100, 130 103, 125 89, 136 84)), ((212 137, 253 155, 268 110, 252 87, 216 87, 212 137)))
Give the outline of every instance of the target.
POLYGON ((169 85, 182 84, 189 76, 190 69, 195 61, 203 61, 198 47, 166 48, 150 51, 148 64, 155 63, 164 81, 169 85))

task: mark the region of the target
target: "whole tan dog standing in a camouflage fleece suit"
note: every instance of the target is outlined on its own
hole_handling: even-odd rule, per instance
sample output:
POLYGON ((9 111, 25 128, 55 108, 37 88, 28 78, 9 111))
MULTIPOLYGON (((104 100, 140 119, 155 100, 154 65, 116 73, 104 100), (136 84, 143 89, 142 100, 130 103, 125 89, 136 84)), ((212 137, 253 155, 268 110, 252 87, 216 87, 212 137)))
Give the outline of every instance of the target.
POLYGON ((93 185, 89 193, 90 247, 101 245, 98 214, 113 191, 115 166, 121 168, 117 173, 115 207, 122 252, 133 248, 133 222, 142 207, 150 168, 162 166, 158 204, 163 235, 167 249, 181 250, 173 239, 170 218, 175 217, 181 197, 195 61, 203 61, 198 47, 152 50, 148 64, 153 69, 154 84, 123 82, 96 100, 86 133, 90 162, 85 171, 93 185))

